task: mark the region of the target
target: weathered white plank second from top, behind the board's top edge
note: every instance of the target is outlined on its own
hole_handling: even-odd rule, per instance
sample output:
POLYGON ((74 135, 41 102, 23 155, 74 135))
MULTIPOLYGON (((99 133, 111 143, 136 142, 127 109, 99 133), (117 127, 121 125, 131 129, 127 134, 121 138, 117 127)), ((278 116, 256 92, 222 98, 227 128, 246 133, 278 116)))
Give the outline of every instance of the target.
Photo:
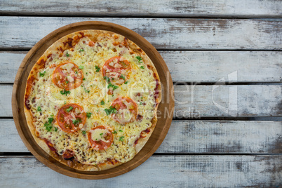
POLYGON ((133 29, 158 49, 280 50, 282 22, 278 20, 222 20, 167 18, 2 17, 0 48, 31 48, 59 27, 98 20, 133 29), (22 28, 22 29, 19 29, 22 28))

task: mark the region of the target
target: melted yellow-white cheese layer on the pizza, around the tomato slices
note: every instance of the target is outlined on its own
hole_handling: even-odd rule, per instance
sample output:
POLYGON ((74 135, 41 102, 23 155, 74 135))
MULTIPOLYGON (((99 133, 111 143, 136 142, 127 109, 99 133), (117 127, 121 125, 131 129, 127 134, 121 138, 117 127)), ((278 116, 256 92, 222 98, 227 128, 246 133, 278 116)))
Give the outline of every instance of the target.
MULTIPOLYGON (((139 56, 137 53, 130 54, 130 48, 113 45, 114 41, 121 43, 123 40, 124 37, 120 35, 119 39, 114 39, 109 34, 100 34, 97 38, 98 42, 94 46, 88 46, 90 39, 84 37, 74 46, 73 51, 65 51, 62 56, 53 52, 51 58, 46 61, 45 69, 40 70, 40 72, 46 73, 44 76, 38 75, 36 78, 38 81, 35 82, 29 95, 30 111, 34 117, 34 126, 39 133, 39 137, 49 140, 58 154, 62 155, 69 149, 74 152, 77 161, 91 165, 103 163, 107 159, 115 159, 125 163, 135 156, 135 140, 140 137, 143 130, 152 126, 151 121, 154 117, 156 105, 154 98, 156 81, 152 70, 147 68, 145 62, 138 63, 137 58, 135 58, 139 56), (119 88, 114 90, 113 95, 108 95, 108 83, 103 78, 102 66, 105 61, 114 56, 122 56, 128 60, 132 69, 126 79, 128 83, 121 84, 119 88), (60 93, 62 89, 52 82, 55 67, 63 62, 74 62, 77 66, 83 66, 81 70, 85 78, 81 86, 69 90, 70 93, 67 95, 62 95, 60 93), (95 67, 97 66, 100 67, 100 72, 96 71, 95 67), (141 66, 145 69, 142 69, 141 66), (138 114, 143 117, 142 120, 121 125, 114 121, 111 115, 107 116, 105 109, 109 109, 112 102, 119 96, 128 96, 137 103, 138 114), (102 101, 105 102, 105 105, 101 105, 102 101), (48 118, 53 116, 55 119, 58 109, 68 103, 77 103, 83 107, 85 112, 92 113, 90 118, 86 119, 86 124, 84 126, 79 125, 79 127, 83 127, 76 133, 65 133, 60 130, 58 123, 54 120, 48 130, 46 127, 48 118), (38 107, 41 107, 41 111, 37 110, 38 107), (116 131, 116 134, 114 134, 113 143, 109 148, 96 151, 90 147, 87 133, 92 131, 91 128, 99 125, 109 126, 113 131, 116 131), (83 134, 83 131, 86 131, 86 134, 83 134)), ((152 66, 152 62, 149 65, 152 66)), ((69 72, 72 66, 72 64, 66 64, 62 68, 69 72)), ((92 137, 94 140, 96 138, 103 139, 99 136, 104 131, 93 131, 92 137)))

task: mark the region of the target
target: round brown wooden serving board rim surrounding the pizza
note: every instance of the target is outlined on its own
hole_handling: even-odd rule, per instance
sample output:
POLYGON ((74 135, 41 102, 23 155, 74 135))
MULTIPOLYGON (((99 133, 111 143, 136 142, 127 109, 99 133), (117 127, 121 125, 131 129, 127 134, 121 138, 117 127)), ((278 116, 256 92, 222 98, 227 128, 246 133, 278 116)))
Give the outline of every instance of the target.
POLYGON ((12 107, 13 107, 13 118, 15 121, 15 126, 17 127, 18 133, 22 138, 22 141, 25 143, 27 149, 42 163, 44 163, 49 168, 68 175, 71 177, 78 177, 83 179, 105 179, 109 177, 115 177, 121 175, 130 170, 133 170, 137 166, 140 166, 141 163, 145 162, 158 147, 163 142, 163 139, 168 133, 170 123, 173 119, 173 109, 174 109, 174 96, 173 96, 173 81, 171 79, 168 67, 164 62, 161 55, 156 51, 156 48, 152 46, 146 39, 144 39, 139 34, 133 32, 126 27, 116 25, 109 22, 76 22, 70 25, 66 25, 59 29, 56 29, 54 32, 51 32, 45 36, 41 41, 35 44, 35 46, 27 53, 25 59, 22 61, 18 73, 15 76, 15 83, 13 86, 12 93, 12 107), (107 30, 110 32, 115 32, 126 36, 134 43, 137 44, 143 51, 151 58, 154 63, 159 77, 162 83, 162 100, 159 105, 158 110, 161 112, 159 115, 158 121, 156 123, 156 128, 149 138, 147 144, 142 148, 142 150, 130 161, 122 164, 121 166, 116 166, 109 170, 102 170, 98 172, 87 172, 81 170, 75 170, 69 166, 65 166, 59 161, 53 159, 49 154, 43 151, 39 145, 36 144, 32 134, 29 131, 27 126, 27 121, 24 113, 24 96, 25 96, 25 86, 27 83, 27 77, 29 72, 36 63, 36 61, 43 55, 46 49, 51 46, 55 41, 71 34, 73 32, 78 32, 86 29, 100 29, 107 30))

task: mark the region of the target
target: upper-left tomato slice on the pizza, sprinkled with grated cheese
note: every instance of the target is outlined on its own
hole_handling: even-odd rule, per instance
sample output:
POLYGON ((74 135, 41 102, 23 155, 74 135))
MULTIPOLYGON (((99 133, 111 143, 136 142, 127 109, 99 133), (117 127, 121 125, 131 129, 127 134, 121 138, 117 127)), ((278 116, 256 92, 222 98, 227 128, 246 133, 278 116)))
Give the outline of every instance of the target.
POLYGON ((81 85, 83 73, 73 62, 64 62, 53 72, 52 81, 59 88, 71 90, 81 85))

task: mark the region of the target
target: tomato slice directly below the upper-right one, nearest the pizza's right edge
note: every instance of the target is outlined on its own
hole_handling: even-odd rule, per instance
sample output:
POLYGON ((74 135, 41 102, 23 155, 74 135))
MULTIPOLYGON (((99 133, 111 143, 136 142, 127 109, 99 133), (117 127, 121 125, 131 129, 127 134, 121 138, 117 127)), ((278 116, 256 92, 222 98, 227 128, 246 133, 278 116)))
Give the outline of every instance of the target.
POLYGON ((116 113, 112 113, 112 119, 114 119, 114 121, 121 124, 135 121, 138 109, 136 102, 134 102, 131 98, 116 98, 116 100, 112 102, 112 107, 117 110, 116 113))

